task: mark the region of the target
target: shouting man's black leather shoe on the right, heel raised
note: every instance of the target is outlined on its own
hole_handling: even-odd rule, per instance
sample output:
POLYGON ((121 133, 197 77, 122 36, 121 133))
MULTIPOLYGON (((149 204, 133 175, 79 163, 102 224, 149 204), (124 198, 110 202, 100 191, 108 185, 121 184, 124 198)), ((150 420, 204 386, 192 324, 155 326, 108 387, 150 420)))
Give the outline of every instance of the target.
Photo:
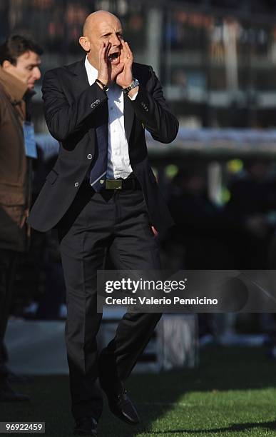
POLYGON ((111 390, 101 381, 101 378, 100 383, 101 388, 103 388, 108 398, 108 406, 111 413, 130 425, 137 425, 137 423, 140 422, 140 418, 131 399, 126 394, 126 389, 123 387, 123 384, 120 383, 119 388, 113 388, 111 390))

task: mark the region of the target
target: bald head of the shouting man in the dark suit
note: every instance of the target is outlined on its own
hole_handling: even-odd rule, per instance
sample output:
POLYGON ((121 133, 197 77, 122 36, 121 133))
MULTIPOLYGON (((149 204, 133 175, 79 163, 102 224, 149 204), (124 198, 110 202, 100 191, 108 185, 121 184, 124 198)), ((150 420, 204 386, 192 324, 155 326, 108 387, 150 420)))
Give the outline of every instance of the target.
MULTIPOLYGON (((113 56, 121 54, 121 40, 123 29, 120 20, 116 15, 108 11, 96 11, 88 15, 83 24, 83 36, 79 39, 83 50, 86 51, 88 61, 98 69, 99 49, 104 44, 108 46, 108 53, 113 56)), ((113 64, 116 60, 113 59, 113 64)))

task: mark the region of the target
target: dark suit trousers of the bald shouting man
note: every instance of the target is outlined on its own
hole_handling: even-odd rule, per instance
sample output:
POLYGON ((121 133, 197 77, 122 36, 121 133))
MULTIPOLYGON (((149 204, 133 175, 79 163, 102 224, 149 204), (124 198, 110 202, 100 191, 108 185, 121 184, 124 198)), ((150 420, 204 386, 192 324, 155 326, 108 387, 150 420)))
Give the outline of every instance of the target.
MULTIPOLYGON (((101 416, 103 401, 96 386, 96 275, 108 250, 117 269, 159 269, 158 246, 140 190, 95 193, 83 184, 58 226, 66 282, 66 347, 72 413, 75 418, 101 416)), ((160 313, 126 313, 116 336, 102 351, 106 378, 125 381, 147 345, 160 313)), ((116 381, 110 381, 115 383, 116 381)))

